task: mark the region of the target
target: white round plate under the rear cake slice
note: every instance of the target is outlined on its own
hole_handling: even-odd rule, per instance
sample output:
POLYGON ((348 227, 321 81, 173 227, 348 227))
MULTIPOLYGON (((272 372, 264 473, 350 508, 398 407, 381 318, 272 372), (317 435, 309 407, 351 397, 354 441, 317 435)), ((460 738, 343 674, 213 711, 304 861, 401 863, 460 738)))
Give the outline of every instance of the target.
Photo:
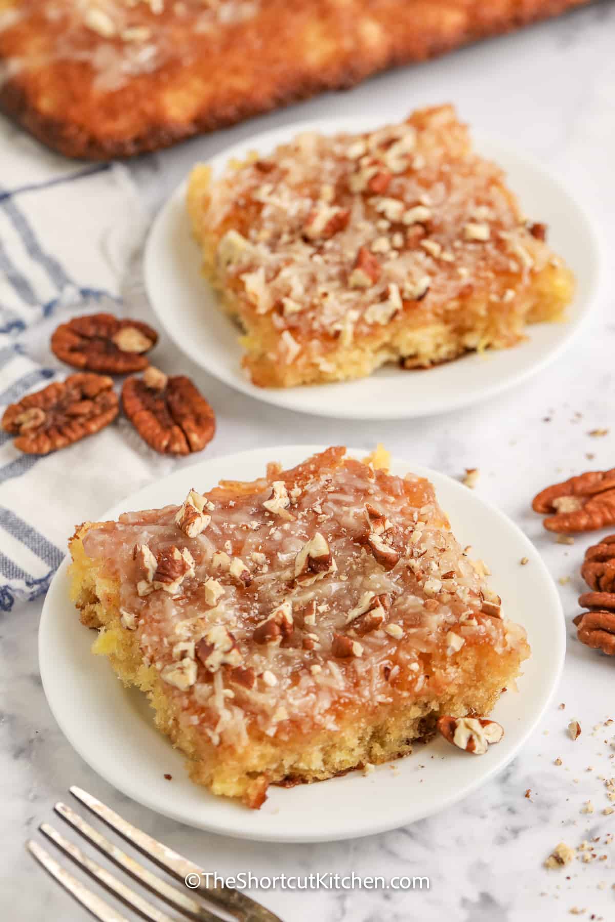
MULTIPOLYGON (((233 145, 209 162, 217 175, 231 157, 241 160, 254 149, 266 154, 299 131, 335 134, 373 127, 373 119, 285 125, 233 145)), ((476 148, 503 167, 528 214, 549 224, 550 244, 574 270, 577 290, 566 323, 532 325, 529 338, 514 349, 469 354, 429 371, 407 372, 389 364, 358 381, 257 387, 242 370, 238 328, 219 310, 218 297, 201 274, 201 254, 190 231, 183 183, 154 221, 145 251, 146 288, 160 324, 179 349, 220 381, 257 400, 317 416, 408 420, 465 407, 518 384, 562 352, 589 312, 597 288, 597 238, 582 207, 538 161, 479 134, 476 148)))

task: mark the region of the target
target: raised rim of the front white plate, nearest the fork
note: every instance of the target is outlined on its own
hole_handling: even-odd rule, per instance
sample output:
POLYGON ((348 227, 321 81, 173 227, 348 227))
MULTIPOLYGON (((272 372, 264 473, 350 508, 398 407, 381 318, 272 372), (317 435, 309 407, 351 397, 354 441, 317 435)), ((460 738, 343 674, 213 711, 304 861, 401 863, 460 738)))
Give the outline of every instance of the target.
MULTIPOLYGON (((140 488, 138 491, 135 491, 134 493, 132 493, 130 497, 127 497, 126 499, 124 499, 122 502, 115 503, 104 515, 101 515, 99 521, 103 521, 105 518, 108 518, 108 517, 116 516, 117 515, 116 511, 118 509, 124 509, 127 503, 132 502, 131 498, 135 498, 135 500, 137 501, 139 494, 145 493, 146 491, 151 490, 152 488, 160 485, 161 483, 165 481, 169 481, 175 478, 181 479, 182 477, 185 477, 186 474, 190 475, 190 472, 195 471, 195 467, 206 466, 209 462, 213 462, 216 464, 228 462, 232 466, 233 462, 242 462, 250 458, 254 458, 254 467, 255 467, 257 463, 260 464, 261 457, 265 454, 269 455, 270 457, 281 458, 281 457, 284 457, 285 453, 288 453, 290 455, 290 453, 299 453, 301 450, 301 452, 304 453, 305 456, 308 456, 317 451, 324 450, 324 447, 325 446, 323 445, 313 445, 313 444, 303 445, 301 443, 296 443, 296 444, 291 444, 291 445, 278 445, 278 446, 271 446, 271 447, 266 447, 266 448, 248 449, 247 451, 233 453, 232 455, 224 455, 221 457, 202 460, 200 462, 197 462, 195 465, 179 468, 178 470, 173 471, 167 477, 154 480, 148 485, 146 485, 145 487, 140 488)), ((348 447, 348 453, 349 455, 363 456, 365 454, 365 449, 348 447)), ((282 463, 288 464, 288 463, 295 463, 295 462, 294 460, 291 460, 290 462, 287 461, 287 462, 282 462, 282 463)), ((437 481, 439 479, 444 479, 445 481, 447 481, 447 486, 448 487, 452 486, 455 489, 455 491, 459 491, 459 495, 466 495, 467 493, 467 487, 465 487, 459 481, 449 477, 447 474, 443 474, 440 471, 433 470, 432 468, 425 467, 423 465, 410 464, 407 461, 403 460, 400 456, 392 457, 392 465, 394 467, 396 467, 397 465, 402 466, 402 467, 407 467, 408 470, 411 470, 413 473, 419 474, 419 476, 427 476, 430 478, 433 478, 435 476, 436 493, 438 491, 437 481)), ((522 529, 519 526, 517 526, 516 523, 512 519, 510 519, 506 514, 504 514, 492 502, 489 502, 485 500, 484 498, 474 495, 474 494, 472 494, 472 499, 474 502, 477 502, 479 505, 481 505, 485 511, 489 512, 490 514, 493 514, 495 518, 498 519, 499 522, 504 527, 508 528, 510 532, 512 532, 512 534, 517 540, 521 541, 525 549, 530 554, 530 561, 532 561, 535 567, 538 567, 538 573, 540 575, 541 580, 544 581, 545 583, 545 588, 548 587, 549 589, 549 595, 550 595, 550 599, 553 605, 553 624, 557 625, 555 637, 553 638, 553 644, 551 647, 553 659, 551 660, 550 665, 551 665, 551 668, 553 669, 553 675, 550 681, 550 686, 549 686, 548 691, 545 691, 543 693, 542 703, 538 706, 538 710, 535 712, 534 716, 529 720, 526 727, 521 731, 520 737, 517 740, 517 742, 514 744, 513 749, 510 752, 508 752, 505 755, 505 757, 501 758, 499 761, 494 760, 491 765, 487 763, 485 765, 485 768, 481 770, 480 773, 477 774, 477 776, 474 779, 472 779, 471 781, 469 781, 467 784, 463 786, 463 788, 461 789, 461 792, 457 788, 455 788, 455 786, 451 786, 448 793, 447 794, 444 793, 441 796, 441 798, 438 799, 437 805, 435 807, 433 806, 433 804, 429 804, 428 802, 427 806, 423 810, 415 809, 412 811, 411 815, 409 812, 406 815, 403 815, 402 813, 400 819, 397 819, 397 818, 392 819, 390 816, 387 815, 386 819, 383 819, 380 822, 378 822, 377 817, 375 819, 372 818, 372 822, 363 822, 362 825, 359 823, 355 823, 355 825, 352 827, 352 829, 349 832, 348 831, 339 832, 337 831, 337 829, 331 828, 331 824, 329 824, 328 832, 325 832, 324 830, 321 830, 321 831, 316 830, 313 833, 300 833, 300 834, 292 834, 292 833, 286 833, 286 832, 284 833, 260 832, 258 829, 250 828, 248 826, 248 823, 245 822, 247 821, 248 817, 247 815, 243 817, 243 814, 241 814, 241 818, 239 819, 237 826, 229 829, 224 825, 223 821, 219 822, 219 821, 216 821, 216 819, 214 819, 213 822, 203 822, 202 817, 198 817, 198 818, 195 816, 193 816, 192 818, 186 817, 181 810, 173 810, 172 807, 168 805, 169 803, 168 801, 164 801, 163 803, 160 803, 160 801, 156 800, 155 797, 149 798, 147 791, 144 792, 141 788, 139 788, 136 782, 135 783, 132 782, 132 775, 129 773, 122 774, 119 769, 117 771, 113 771, 112 769, 110 769, 107 763, 105 763, 105 765, 101 769, 100 762, 97 762, 97 756, 96 756, 96 753, 98 750, 95 749, 94 753, 92 754, 92 752, 90 751, 91 745, 90 746, 88 745, 88 737, 86 736, 85 738, 83 738, 83 735, 81 738, 79 737, 77 728, 72 726, 70 724, 70 721, 66 718, 65 711, 63 711, 62 707, 58 704, 58 701, 56 700, 53 694, 53 691, 51 691, 50 693, 50 690, 53 689, 53 680, 51 678, 53 669, 51 668, 52 664, 48 661, 48 659, 45 656, 45 640, 46 640, 47 632, 50 630, 53 630, 52 621, 53 621, 54 596, 57 592, 62 591, 64 587, 63 585, 65 585, 67 582, 66 571, 67 571, 68 564, 70 562, 68 555, 66 555, 64 561, 62 561, 57 572, 54 574, 52 583, 44 599, 42 610, 41 610, 41 620, 40 620, 39 632, 38 632, 37 649, 38 649, 41 683, 42 683, 42 688, 43 688, 43 692, 45 695, 45 699, 52 712, 53 718, 55 719, 58 727, 64 734, 67 741, 70 743, 73 749, 77 751, 77 754, 84 760, 84 762, 86 762, 89 765, 89 767, 96 774, 100 775, 101 778, 103 778, 108 784, 110 784, 116 791, 120 792, 121 794, 124 794, 128 798, 135 800, 137 803, 139 803, 143 807, 146 807, 148 810, 152 810, 155 813, 159 813, 163 816, 166 816, 170 818, 171 820, 174 820, 175 822, 181 822, 184 825, 188 825, 193 828, 206 831, 208 833, 216 833, 216 834, 226 835, 231 838, 251 840, 251 841, 257 841, 257 842, 272 842, 272 843, 286 843, 286 844, 335 842, 335 841, 349 840, 352 838, 360 838, 366 835, 384 833, 388 830, 396 829, 401 826, 408 825, 412 822, 418 822, 419 820, 425 819, 426 817, 432 816, 433 814, 437 814, 441 812, 442 810, 447 809, 448 807, 452 806, 459 800, 469 797, 471 794, 473 794, 477 790, 479 786, 490 781, 491 778, 495 774, 499 774, 503 772, 506 766, 510 764, 510 762, 512 762, 512 760, 515 758, 518 752, 525 745, 526 740, 531 736, 531 734, 534 732, 534 730, 538 726, 539 721, 542 719, 542 716, 544 715, 545 711, 549 707, 549 704, 553 700, 555 692, 558 689, 558 686, 560 684, 560 680, 562 677, 562 668, 563 668, 564 656, 565 656, 565 650, 566 650, 566 629, 565 629, 565 620, 563 616, 562 601, 558 594, 553 578, 550 575, 550 571, 547 565, 545 564, 545 562, 542 560, 542 557, 538 549, 533 545, 533 543, 529 540, 529 538, 526 537, 522 529), (239 828, 242 825, 242 819, 243 819, 243 828, 239 828)), ((72 605, 72 602, 70 604, 72 605)), ((114 679, 115 675, 112 672, 112 668, 109 666, 109 664, 105 663, 104 666, 106 666, 109 669, 110 679, 114 679)), ((94 673, 92 672, 91 674, 93 675, 94 673)), ((140 691, 137 691, 137 693, 141 695, 143 694, 140 691)), ((143 697, 145 698, 145 695, 143 695, 143 697)), ((518 719, 523 720, 524 717, 519 716, 518 719)), ((152 721, 153 721, 153 716, 152 716, 152 721)), ((160 731, 157 730, 156 732, 160 732, 160 731)), ((392 762, 386 763, 386 765, 391 764, 391 763, 392 762)), ((332 780, 335 780, 335 779, 332 779, 332 780)), ((192 784, 192 782, 189 782, 189 784, 192 784)), ((322 784, 322 782, 320 784, 322 784)), ((315 786, 315 789, 316 790, 318 789, 318 785, 315 786)), ((208 793, 209 792, 207 792, 207 794, 208 793)), ((214 795, 210 795, 210 796, 214 797, 214 795)), ((376 797, 377 797, 377 794, 376 794, 376 797)), ((215 804, 215 801, 213 803, 215 804)), ((249 812, 251 814, 253 811, 249 811, 249 812)), ((238 814, 238 816, 240 816, 240 814, 238 814)), ((370 814, 368 813, 366 820, 369 821, 369 818, 370 818, 370 814)))

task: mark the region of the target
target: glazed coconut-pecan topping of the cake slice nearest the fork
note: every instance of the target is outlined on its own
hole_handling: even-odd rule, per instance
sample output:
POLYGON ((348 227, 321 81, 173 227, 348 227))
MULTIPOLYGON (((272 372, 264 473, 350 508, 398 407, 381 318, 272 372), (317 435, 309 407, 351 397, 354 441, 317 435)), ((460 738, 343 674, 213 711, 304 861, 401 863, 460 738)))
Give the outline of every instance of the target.
POLYGON ((216 745, 437 696, 458 651, 525 643, 425 480, 332 448, 186 502, 92 528, 84 548, 119 577, 122 627, 185 696, 182 720, 216 745), (185 530, 186 502, 207 527, 185 530))

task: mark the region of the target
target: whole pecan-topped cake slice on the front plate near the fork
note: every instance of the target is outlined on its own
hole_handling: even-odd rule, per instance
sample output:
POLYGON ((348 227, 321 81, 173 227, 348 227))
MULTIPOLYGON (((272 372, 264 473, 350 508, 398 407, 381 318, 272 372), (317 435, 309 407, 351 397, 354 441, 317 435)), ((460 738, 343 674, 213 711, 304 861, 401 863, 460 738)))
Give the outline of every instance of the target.
POLYGON ((384 455, 270 464, 70 542, 94 652, 215 794, 259 807, 406 755, 439 715, 489 713, 529 655, 432 485, 384 455))

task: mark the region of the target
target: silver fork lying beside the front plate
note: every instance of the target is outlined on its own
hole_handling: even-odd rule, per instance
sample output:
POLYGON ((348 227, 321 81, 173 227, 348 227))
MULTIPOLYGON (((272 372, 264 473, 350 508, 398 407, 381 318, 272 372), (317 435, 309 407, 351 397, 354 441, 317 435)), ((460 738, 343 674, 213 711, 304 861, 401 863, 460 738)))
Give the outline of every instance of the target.
MULTIPOLYGON (((91 810, 99 819, 105 822, 112 830, 119 833, 127 842, 140 851, 143 855, 155 862, 161 869, 166 870, 177 881, 181 881, 184 891, 177 887, 171 886, 170 883, 161 879, 157 874, 144 868, 135 860, 135 858, 113 845, 108 839, 101 835, 98 830, 89 825, 75 810, 61 801, 54 806, 55 812, 62 817, 65 822, 73 827, 91 845, 102 852, 121 869, 126 871, 134 880, 138 881, 144 887, 161 900, 170 904, 174 909, 179 910, 183 918, 196 919, 197 922, 220 922, 221 918, 227 919, 231 916, 239 922, 282 922, 279 916, 256 903, 245 893, 233 890, 231 887, 223 885, 208 886, 207 873, 195 865, 188 858, 184 858, 177 852, 152 839, 148 833, 143 833, 136 826, 126 822, 121 816, 105 807, 100 800, 93 798, 87 791, 80 787, 73 786, 70 793, 77 798, 88 810, 91 810), (185 880, 192 875, 192 881, 197 882, 197 886, 188 889, 185 880), (195 893, 201 893, 209 904, 214 904, 222 910, 222 916, 207 909, 200 902, 193 898, 195 893)), ((139 893, 131 890, 123 881, 117 878, 100 864, 92 860, 88 855, 81 851, 73 842, 66 839, 62 833, 58 833, 48 822, 42 822, 39 826, 41 833, 53 842, 65 855, 71 858, 79 868, 87 871, 89 875, 98 881, 108 891, 112 892, 122 903, 129 908, 134 909, 136 913, 150 922, 178 922, 178 916, 168 916, 161 912, 155 905, 151 904, 139 893)), ((67 892, 73 896, 78 903, 85 906, 86 909, 101 922, 130 922, 125 916, 122 916, 108 903, 105 903, 96 893, 88 889, 81 881, 73 877, 65 868, 59 864, 55 858, 39 845, 38 842, 30 839, 26 843, 30 855, 48 871, 54 880, 58 881, 67 892)))

